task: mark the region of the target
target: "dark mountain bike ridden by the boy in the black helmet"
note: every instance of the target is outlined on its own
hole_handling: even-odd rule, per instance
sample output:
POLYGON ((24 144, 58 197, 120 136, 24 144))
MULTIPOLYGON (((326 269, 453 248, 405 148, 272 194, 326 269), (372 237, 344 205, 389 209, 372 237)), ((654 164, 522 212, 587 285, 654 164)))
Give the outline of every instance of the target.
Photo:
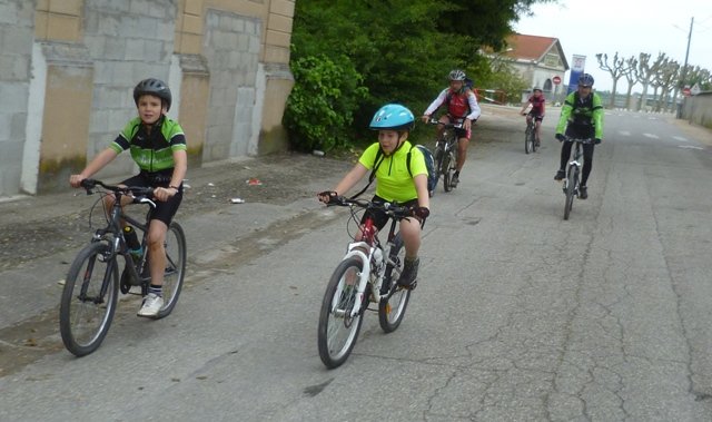
MULTIPOLYGON (((107 226, 95 232, 89 245, 77 254, 69 267, 59 308, 62 342, 76 356, 95 352, 106 337, 117 307, 119 291, 127 294, 131 286, 140 286, 140 295, 146 296, 151 281, 148 271, 150 256, 147 241, 151 212, 156 207, 156 203, 151 200, 154 188, 112 186, 95 179, 81 181, 81 187, 87 190, 87 195, 93 194, 97 186, 102 188, 99 189, 101 197, 89 213, 90 225, 92 212, 97 204, 102 202, 103 196, 110 195, 109 192, 111 192, 116 200, 106 215, 107 226), (134 204, 150 206, 146 223, 140 223, 123 213, 120 204, 121 198, 127 195, 134 198, 134 204), (122 222, 142 232, 141 249, 145 253, 140 258, 132 255, 127 245, 122 222), (126 275, 121 276, 121 282, 119 282, 119 256, 122 256, 126 262, 123 269, 126 275)), ((156 320, 172 312, 182 288, 186 271, 186 235, 178 223, 172 222, 168 227, 164 246, 167 259, 162 286, 165 302, 158 315, 155 316, 156 320)))

